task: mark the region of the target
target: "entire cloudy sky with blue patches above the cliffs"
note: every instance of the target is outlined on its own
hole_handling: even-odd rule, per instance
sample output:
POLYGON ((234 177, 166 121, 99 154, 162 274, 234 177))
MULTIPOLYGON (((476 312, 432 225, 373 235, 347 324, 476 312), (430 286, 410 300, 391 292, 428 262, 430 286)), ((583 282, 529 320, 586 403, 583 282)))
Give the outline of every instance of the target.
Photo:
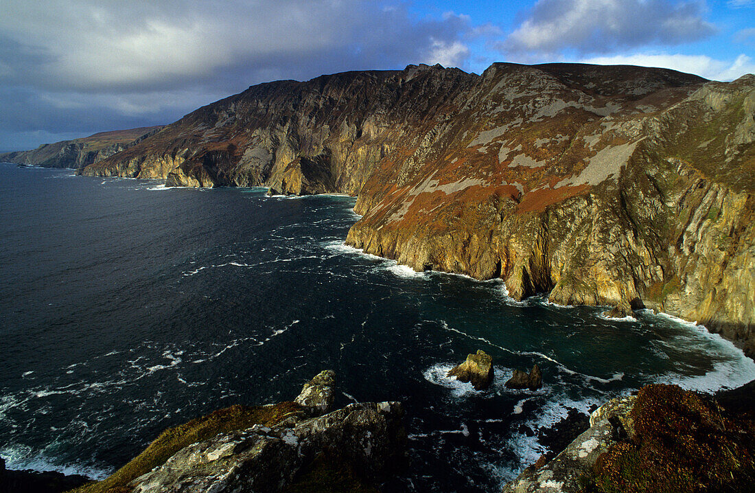
POLYGON ((249 85, 494 61, 755 72, 755 0, 0 0, 0 150, 169 123, 249 85))

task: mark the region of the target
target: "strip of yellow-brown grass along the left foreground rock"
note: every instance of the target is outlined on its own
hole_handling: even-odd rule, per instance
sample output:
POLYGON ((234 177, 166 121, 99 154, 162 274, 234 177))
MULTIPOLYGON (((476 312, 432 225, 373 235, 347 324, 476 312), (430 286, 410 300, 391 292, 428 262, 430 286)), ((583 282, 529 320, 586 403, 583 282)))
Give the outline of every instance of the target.
POLYGON ((153 468, 165 464, 173 454, 181 448, 196 442, 211 439, 219 433, 233 430, 245 430, 254 424, 273 426, 288 416, 297 414, 300 405, 295 402, 282 402, 267 406, 233 405, 220 409, 205 417, 197 418, 186 424, 168 428, 149 447, 131 462, 117 470, 112 476, 103 481, 93 482, 75 489, 75 493, 121 493, 128 491, 128 485, 133 479, 153 468))

